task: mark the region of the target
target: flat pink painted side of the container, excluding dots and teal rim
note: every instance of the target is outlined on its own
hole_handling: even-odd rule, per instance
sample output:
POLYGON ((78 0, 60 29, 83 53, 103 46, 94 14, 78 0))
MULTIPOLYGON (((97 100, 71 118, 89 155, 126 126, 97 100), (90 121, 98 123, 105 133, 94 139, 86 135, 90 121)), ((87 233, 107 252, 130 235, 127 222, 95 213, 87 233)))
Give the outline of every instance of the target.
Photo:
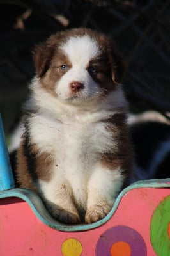
MULTIPOLYGON (((118 209, 107 223, 93 230, 82 232, 54 230, 38 220, 26 202, 19 198, 1 199, 0 255, 100 256, 101 253, 97 248, 101 246, 102 234, 106 236, 108 230, 110 230, 109 237, 113 239, 115 227, 118 229, 119 227, 123 228, 121 226, 125 226, 125 234, 126 230, 127 232, 131 230, 132 233, 134 232, 135 234, 136 232, 143 239, 144 246, 146 246, 146 255, 156 256, 150 242, 151 216, 157 205, 168 195, 170 195, 169 188, 132 189, 123 196, 118 209), (72 238, 80 242, 77 245, 79 250, 76 249, 74 254, 72 254, 71 249, 69 250, 69 244, 68 247, 65 246, 66 239, 70 239, 71 243, 72 238), (62 245, 63 248, 65 247, 64 254, 61 251, 62 245)), ((109 243, 112 242, 110 241, 109 243)), ((137 248, 137 244, 135 244, 135 247, 137 248)), ((112 256, 110 250, 109 252, 112 256)), ((107 256, 105 249, 102 256, 107 256)), ((133 253, 130 256, 133 256, 133 253)))

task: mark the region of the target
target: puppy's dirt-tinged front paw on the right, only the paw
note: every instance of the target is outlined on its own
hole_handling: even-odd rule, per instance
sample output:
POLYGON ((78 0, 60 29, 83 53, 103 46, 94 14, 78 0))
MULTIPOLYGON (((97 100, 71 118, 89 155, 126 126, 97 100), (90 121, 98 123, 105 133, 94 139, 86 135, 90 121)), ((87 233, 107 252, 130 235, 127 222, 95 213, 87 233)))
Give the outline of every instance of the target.
POLYGON ((89 207, 85 216, 86 223, 93 223, 101 220, 109 213, 109 211, 111 211, 111 208, 112 206, 109 204, 93 205, 89 207))

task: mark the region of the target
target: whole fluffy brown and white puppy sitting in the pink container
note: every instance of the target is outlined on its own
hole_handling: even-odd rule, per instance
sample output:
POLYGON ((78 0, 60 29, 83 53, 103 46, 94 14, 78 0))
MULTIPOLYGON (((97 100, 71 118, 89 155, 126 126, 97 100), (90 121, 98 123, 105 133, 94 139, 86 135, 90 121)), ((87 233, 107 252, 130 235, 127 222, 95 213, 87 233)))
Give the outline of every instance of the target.
POLYGON ((123 61, 108 38, 85 28, 50 36, 33 58, 19 186, 38 193, 56 220, 93 223, 111 210, 130 172, 123 61))

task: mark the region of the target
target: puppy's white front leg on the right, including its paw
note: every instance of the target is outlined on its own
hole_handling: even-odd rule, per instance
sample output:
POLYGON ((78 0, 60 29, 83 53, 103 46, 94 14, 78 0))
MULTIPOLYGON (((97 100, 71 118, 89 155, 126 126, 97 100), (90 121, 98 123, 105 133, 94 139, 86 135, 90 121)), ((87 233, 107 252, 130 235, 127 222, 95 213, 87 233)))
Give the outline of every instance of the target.
POLYGON ((102 165, 95 167, 88 183, 86 223, 98 221, 111 211, 122 184, 120 168, 109 170, 102 165))

